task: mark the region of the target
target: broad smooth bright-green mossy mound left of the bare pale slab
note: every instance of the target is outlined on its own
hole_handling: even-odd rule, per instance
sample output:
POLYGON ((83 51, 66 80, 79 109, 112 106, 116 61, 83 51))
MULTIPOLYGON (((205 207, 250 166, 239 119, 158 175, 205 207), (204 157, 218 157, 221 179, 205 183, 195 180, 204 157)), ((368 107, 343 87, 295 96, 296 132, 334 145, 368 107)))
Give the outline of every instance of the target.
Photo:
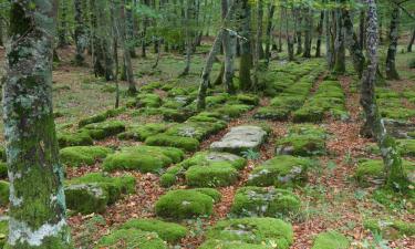
POLYGON ((121 152, 108 155, 103 163, 103 168, 106 172, 126 169, 157 173, 170 164, 179 163, 184 155, 183 151, 173 147, 124 147, 121 152))

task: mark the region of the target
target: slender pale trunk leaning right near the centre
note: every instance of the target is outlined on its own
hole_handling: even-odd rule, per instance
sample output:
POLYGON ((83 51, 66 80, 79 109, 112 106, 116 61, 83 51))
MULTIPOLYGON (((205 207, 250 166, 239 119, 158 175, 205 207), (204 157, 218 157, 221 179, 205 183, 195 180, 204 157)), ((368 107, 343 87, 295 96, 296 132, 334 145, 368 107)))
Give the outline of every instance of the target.
POLYGON ((197 110, 198 111, 201 111, 201 110, 206 108, 206 92, 207 92, 207 89, 209 87, 210 72, 211 72, 211 69, 214 68, 216 55, 220 51, 220 45, 222 44, 224 34, 226 32, 225 28, 226 28, 227 23, 229 22, 230 18, 234 15, 236 6, 237 4, 235 2, 230 6, 230 8, 228 10, 228 13, 227 13, 227 15, 224 20, 224 27, 220 28, 219 33, 216 37, 215 42, 214 42, 214 44, 211 46, 211 50, 209 52, 209 55, 206 60, 204 72, 201 73, 199 92, 198 92, 198 95, 197 95, 197 110))

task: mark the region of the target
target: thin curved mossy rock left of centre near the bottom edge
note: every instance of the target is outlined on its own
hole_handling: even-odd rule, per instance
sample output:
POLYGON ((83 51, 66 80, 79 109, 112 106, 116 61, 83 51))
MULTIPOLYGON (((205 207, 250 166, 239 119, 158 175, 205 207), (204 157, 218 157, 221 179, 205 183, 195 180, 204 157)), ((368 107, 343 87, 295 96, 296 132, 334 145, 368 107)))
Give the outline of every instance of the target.
POLYGON ((156 232, 158 237, 169 243, 176 243, 185 238, 186 227, 158 219, 131 219, 121 226, 121 229, 138 229, 156 232))

